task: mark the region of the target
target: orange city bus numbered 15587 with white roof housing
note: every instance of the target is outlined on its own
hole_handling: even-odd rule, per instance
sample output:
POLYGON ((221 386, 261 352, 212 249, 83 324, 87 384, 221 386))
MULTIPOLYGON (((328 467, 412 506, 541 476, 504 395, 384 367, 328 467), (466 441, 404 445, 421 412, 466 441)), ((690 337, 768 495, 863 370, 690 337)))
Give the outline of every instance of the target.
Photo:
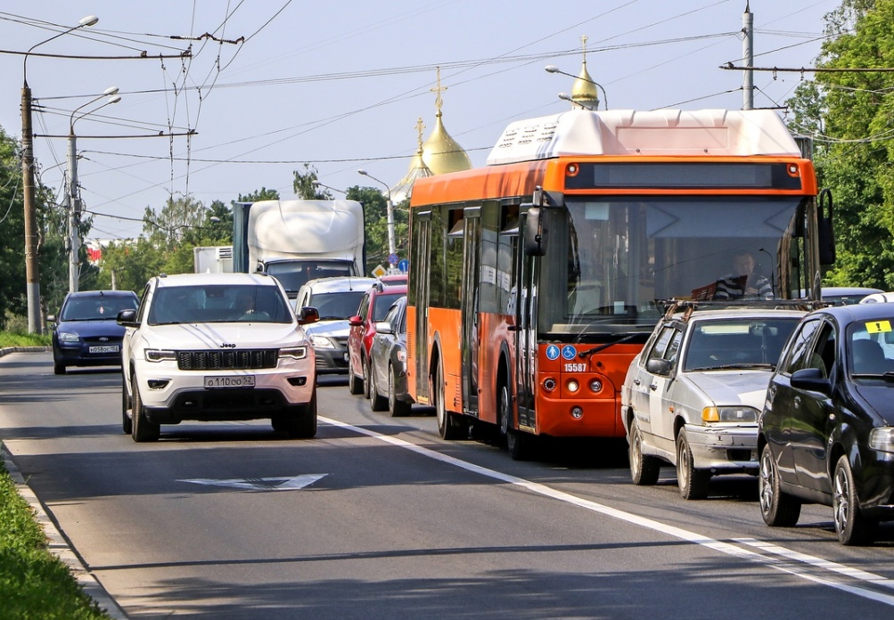
POLYGON ((671 299, 746 250, 777 298, 831 258, 813 163, 771 111, 572 110, 410 198, 408 390, 445 440, 624 436, 620 386, 671 299))

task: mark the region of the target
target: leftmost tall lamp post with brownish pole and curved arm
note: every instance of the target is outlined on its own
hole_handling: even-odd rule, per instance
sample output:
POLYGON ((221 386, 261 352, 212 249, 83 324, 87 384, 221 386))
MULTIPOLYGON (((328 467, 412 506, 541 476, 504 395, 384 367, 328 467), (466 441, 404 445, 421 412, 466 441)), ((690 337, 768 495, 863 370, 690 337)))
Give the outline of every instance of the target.
POLYGON ((77 26, 63 30, 53 37, 47 38, 30 47, 21 62, 21 190, 24 202, 25 220, 25 287, 28 295, 28 331, 41 333, 40 320, 40 272, 38 269, 38 225, 35 221, 34 207, 34 141, 31 130, 31 88, 28 86, 28 54, 37 46, 49 43, 55 38, 83 28, 93 26, 99 21, 95 15, 89 15, 78 22, 77 26))

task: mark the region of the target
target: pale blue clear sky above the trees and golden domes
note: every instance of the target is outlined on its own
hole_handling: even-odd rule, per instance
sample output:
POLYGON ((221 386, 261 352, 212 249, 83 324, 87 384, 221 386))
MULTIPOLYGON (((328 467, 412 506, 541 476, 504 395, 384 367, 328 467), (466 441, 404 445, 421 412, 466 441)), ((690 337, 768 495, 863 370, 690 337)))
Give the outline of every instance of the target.
MULTIPOLYGON (((755 67, 811 67, 823 16, 839 0, 751 0, 755 67)), ((90 237, 139 234, 147 206, 184 194, 229 205, 265 187, 294 197, 304 163, 337 189, 395 185, 443 122, 483 165, 510 122, 569 108, 558 98, 587 68, 611 109, 742 106, 746 0, 4 0, 0 126, 21 136, 23 56, 87 15, 99 22, 41 44, 27 60, 38 100, 40 180, 60 192, 72 112, 90 237), (191 49, 191 58, 179 56, 191 49), (148 58, 139 59, 146 52, 148 58), (38 54, 117 56, 121 60, 38 54), (159 58, 161 54, 174 56, 159 58), (105 88, 122 101, 90 104, 105 88), (82 115, 83 114, 83 115, 82 115), (159 133, 191 138, 157 137, 159 133), (90 136, 155 136, 90 138, 90 136)), ((806 74, 810 77, 810 74, 806 74)), ((800 73, 755 73, 755 107, 784 105, 800 73)))

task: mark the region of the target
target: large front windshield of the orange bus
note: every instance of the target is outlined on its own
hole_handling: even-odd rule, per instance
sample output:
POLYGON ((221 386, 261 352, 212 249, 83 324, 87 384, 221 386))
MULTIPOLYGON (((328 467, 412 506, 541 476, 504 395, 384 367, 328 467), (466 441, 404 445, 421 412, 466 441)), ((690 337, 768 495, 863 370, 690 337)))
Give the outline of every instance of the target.
POLYGON ((798 297, 791 272, 798 244, 790 236, 800 201, 566 197, 565 208, 544 209, 538 329, 555 336, 640 331, 654 326, 670 299, 798 297), (750 269, 741 266, 749 261, 750 269))

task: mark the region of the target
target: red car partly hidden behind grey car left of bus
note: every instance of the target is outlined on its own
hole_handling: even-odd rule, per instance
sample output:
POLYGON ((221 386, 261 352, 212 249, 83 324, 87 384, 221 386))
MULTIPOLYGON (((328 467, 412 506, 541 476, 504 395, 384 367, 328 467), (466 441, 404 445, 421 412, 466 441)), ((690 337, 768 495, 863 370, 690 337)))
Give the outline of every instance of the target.
MULTIPOLYGON (((384 276, 387 278, 388 276, 384 276)), ((383 278, 383 280, 384 280, 383 278)), ((402 283, 376 282, 360 300, 357 316, 350 317, 348 336, 348 389, 351 394, 369 396, 369 347, 375 336, 375 322, 382 321, 388 308, 407 294, 402 283)))

